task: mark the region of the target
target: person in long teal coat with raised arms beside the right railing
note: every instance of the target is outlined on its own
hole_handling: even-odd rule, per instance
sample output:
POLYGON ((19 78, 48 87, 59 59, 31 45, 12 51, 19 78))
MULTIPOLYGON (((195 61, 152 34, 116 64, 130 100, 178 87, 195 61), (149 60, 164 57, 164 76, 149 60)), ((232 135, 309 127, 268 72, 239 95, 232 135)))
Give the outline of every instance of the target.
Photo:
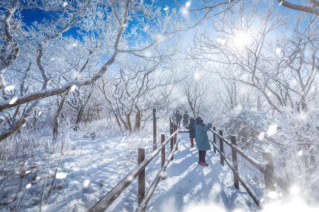
POLYGON ((203 119, 200 116, 195 118, 195 126, 196 126, 196 143, 198 147, 198 156, 199 161, 198 164, 201 166, 208 166, 206 163, 206 151, 210 150, 210 144, 208 141, 207 131, 211 128, 212 123, 204 124, 203 119))

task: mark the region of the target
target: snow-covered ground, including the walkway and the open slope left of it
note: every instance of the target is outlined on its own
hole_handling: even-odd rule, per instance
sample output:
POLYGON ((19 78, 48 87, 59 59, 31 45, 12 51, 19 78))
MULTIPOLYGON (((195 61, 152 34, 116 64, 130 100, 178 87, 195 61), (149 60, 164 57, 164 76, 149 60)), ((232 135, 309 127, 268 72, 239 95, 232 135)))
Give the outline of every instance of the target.
MULTIPOLYGON (((234 188, 232 172, 227 166, 221 166, 218 154, 214 154, 212 150, 207 152, 209 167, 197 164, 197 148, 190 148, 188 136, 187 133, 179 133, 178 150, 174 154, 174 160, 169 163, 167 177, 159 182, 146 211, 256 211, 255 203, 243 187, 240 190, 234 188)), ((18 211, 40 211, 41 202, 41 211, 45 212, 87 211, 137 166, 139 147, 144 146, 146 157, 153 151, 152 137, 92 139, 71 136, 70 139, 69 150, 63 155, 59 152, 48 152, 47 155, 42 153, 34 155, 26 163, 32 169, 25 174, 29 183, 22 185, 25 188, 24 195, 17 197, 20 205, 18 211), (59 160, 59 168, 56 169, 59 160), (46 167, 49 167, 47 171, 46 167), (39 168, 44 170, 36 174, 39 168), (44 182, 45 173, 49 177, 44 182), (52 184, 54 176, 56 179, 52 184), (45 204, 48 195, 49 199, 45 204)), ((169 144, 166 148, 167 155, 168 149, 169 144)), ((146 189, 160 168, 161 161, 157 156, 146 168, 146 189)), ((14 180, 18 179, 12 179, 11 185, 1 185, 7 191, 7 195, 1 195, 2 202, 9 205, 10 199, 15 195, 10 193, 15 189, 14 180)), ((137 190, 135 179, 106 211, 135 211, 138 206, 137 190)), ((291 205, 293 208, 303 206, 304 211, 310 211, 300 199, 289 204, 289 209, 291 205)), ((265 211, 287 209, 282 207, 287 206, 276 205, 265 211)), ((4 204, 0 209, 12 211, 4 204)))

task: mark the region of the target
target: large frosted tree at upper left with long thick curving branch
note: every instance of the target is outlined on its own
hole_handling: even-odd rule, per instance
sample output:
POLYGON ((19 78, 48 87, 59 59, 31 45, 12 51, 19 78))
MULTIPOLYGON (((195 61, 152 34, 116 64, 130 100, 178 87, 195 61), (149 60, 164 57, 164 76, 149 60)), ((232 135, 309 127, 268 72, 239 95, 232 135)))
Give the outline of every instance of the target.
POLYGON ((4 10, 0 11, 3 29, 0 110, 4 118, 0 139, 23 126, 41 99, 101 78, 120 53, 143 56, 143 51, 170 33, 169 27, 174 24, 176 15, 174 11, 171 15, 163 15, 160 9, 153 10, 150 5, 138 1, 74 1, 72 4, 53 0, 41 4, 12 1, 1 3, 1 7, 4 10), (50 18, 28 24, 23 14, 31 9, 47 11, 50 18), (85 43, 83 50, 71 57, 65 46, 59 58, 64 60, 67 69, 57 67, 55 60, 50 59, 51 47, 64 40, 72 45, 70 39, 74 34, 78 42, 85 43), (68 35, 70 38, 65 37, 68 35), (54 67, 59 70, 52 71, 54 67), (64 72, 63 77, 54 72, 64 72), (28 87, 21 93, 19 90, 26 87, 25 82, 32 85, 32 89, 28 87), (19 112, 12 117, 14 109, 19 112))

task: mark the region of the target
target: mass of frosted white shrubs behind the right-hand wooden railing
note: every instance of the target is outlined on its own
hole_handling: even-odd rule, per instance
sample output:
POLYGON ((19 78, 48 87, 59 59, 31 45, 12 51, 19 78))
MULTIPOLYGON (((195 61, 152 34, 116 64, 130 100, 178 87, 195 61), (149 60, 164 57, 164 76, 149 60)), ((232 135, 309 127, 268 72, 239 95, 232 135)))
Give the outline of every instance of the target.
MULTIPOLYGON (((242 110, 229 117, 221 126, 224 137, 236 136, 237 145, 245 153, 262 162, 261 152, 273 155, 275 173, 291 185, 298 185, 309 201, 318 198, 316 179, 319 173, 318 118, 317 109, 298 112, 283 108, 284 113, 272 118, 266 113, 242 110)), ((225 145, 226 155, 231 149, 225 145)), ((230 155, 228 158, 231 160, 230 155)), ((263 176, 249 163, 238 158, 245 167, 247 178, 262 183, 263 176)))

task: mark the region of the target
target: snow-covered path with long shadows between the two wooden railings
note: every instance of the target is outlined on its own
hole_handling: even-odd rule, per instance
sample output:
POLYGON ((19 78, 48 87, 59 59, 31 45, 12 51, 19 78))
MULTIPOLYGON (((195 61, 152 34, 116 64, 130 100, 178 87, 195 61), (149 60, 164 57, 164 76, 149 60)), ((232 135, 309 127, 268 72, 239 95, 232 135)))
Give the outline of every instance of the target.
MULTIPOLYGON (((190 148, 189 134, 179 134, 178 151, 150 199, 147 211, 250 211, 254 202, 233 186, 232 172, 220 156, 207 151, 209 167, 197 164, 198 150, 190 148)), ((195 145, 196 146, 196 145, 195 145)))

